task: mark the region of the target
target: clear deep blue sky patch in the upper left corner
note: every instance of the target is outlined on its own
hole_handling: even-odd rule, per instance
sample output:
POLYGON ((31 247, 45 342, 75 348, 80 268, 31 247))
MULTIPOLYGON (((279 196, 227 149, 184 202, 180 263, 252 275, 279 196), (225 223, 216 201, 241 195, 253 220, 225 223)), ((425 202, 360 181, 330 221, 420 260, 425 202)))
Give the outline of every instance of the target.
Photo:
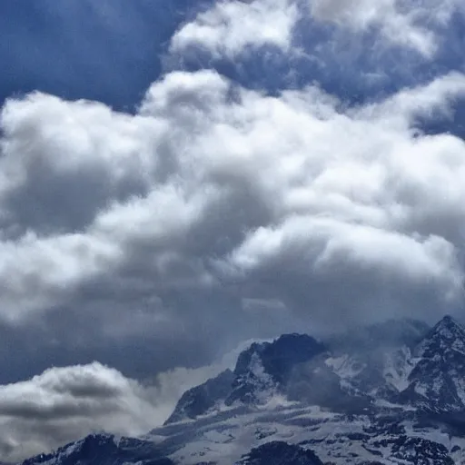
POLYGON ((16 0, 0 5, 0 101, 35 90, 133 109, 190 2, 16 0))

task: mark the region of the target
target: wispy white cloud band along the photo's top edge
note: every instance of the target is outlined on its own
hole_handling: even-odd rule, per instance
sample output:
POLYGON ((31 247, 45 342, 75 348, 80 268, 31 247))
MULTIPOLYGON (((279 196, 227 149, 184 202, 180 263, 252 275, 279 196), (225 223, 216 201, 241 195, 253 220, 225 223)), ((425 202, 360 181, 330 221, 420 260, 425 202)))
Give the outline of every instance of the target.
POLYGON ((440 47, 438 30, 450 23, 459 7, 455 0, 224 1, 181 27, 173 35, 171 52, 192 53, 193 48, 200 47, 217 59, 233 58, 247 50, 272 45, 284 53, 296 53, 299 49, 290 51, 290 47, 303 19, 336 25, 351 35, 374 31, 388 46, 406 47, 430 59, 440 47))

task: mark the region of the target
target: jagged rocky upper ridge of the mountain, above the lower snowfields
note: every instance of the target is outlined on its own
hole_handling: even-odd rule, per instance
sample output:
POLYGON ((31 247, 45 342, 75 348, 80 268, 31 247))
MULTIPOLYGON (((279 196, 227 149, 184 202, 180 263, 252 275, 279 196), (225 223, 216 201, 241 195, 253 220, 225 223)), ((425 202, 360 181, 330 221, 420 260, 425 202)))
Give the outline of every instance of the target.
POLYGON ((222 405, 262 405, 276 395, 334 411, 364 411, 379 400, 465 410, 465 330, 445 317, 430 331, 411 320, 386 322, 328 345, 299 334, 253 343, 233 373, 187 391, 167 423, 222 405))

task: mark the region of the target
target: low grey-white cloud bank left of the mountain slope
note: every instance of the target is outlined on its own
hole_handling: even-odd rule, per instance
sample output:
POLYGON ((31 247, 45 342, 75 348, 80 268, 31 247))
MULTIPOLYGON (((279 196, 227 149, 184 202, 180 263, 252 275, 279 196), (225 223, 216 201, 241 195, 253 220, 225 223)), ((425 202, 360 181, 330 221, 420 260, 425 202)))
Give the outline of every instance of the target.
POLYGON ((101 363, 52 368, 32 380, 0 386, 0 455, 23 460, 91 431, 137 435, 160 425, 183 390, 218 367, 174 370, 141 384, 101 363))

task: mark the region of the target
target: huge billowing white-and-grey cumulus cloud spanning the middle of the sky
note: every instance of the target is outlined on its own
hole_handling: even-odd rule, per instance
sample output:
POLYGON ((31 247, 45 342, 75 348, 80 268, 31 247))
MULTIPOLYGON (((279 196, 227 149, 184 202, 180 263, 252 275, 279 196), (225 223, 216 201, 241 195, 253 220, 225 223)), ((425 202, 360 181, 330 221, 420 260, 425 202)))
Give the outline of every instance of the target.
MULTIPOLYGON (((433 292, 438 305, 457 299, 464 146, 414 126, 419 116, 447 114, 464 93, 465 77, 449 74, 344 110, 315 86, 267 97, 202 71, 166 75, 134 116, 43 94, 10 100, 1 316, 21 321, 98 286, 101 298, 133 288, 135 302, 163 302, 153 322, 175 332, 173 322, 197 315, 166 305, 173 292, 234 289, 239 300, 262 299, 292 282, 304 295, 322 280, 330 293, 339 281, 328 270, 360 277, 352 282, 360 307, 367 285, 433 292), (94 172, 102 195, 71 202, 94 172), (124 185, 134 188, 118 195, 124 185), (50 188, 49 197, 29 194, 50 188), (22 217, 17 199, 37 202, 45 216, 22 217), (83 208, 80 223, 67 221, 83 208), (56 223, 47 214, 55 209, 66 213, 56 223)), ((309 312, 313 298, 293 310, 309 312)), ((331 312, 345 306, 334 302, 331 312)))

